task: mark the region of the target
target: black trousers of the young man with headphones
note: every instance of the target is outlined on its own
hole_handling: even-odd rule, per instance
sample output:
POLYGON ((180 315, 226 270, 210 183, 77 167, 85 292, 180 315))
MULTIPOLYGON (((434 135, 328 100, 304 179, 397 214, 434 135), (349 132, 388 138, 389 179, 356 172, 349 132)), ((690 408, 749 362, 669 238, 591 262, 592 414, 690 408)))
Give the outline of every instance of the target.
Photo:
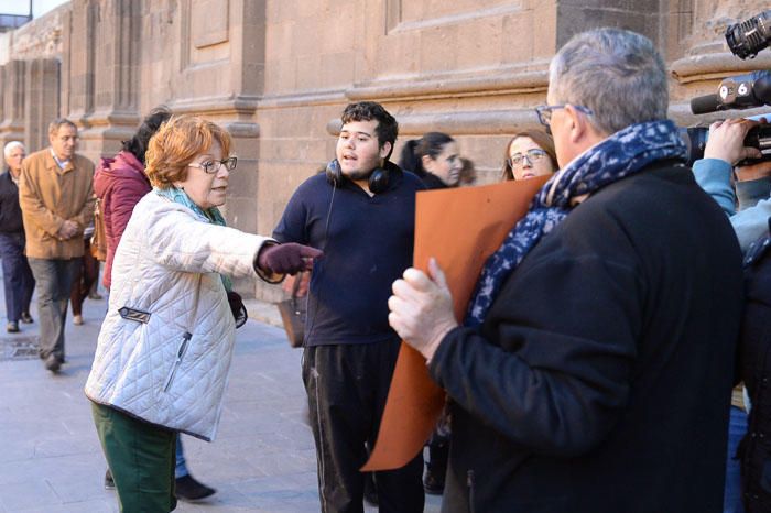
MULTIPOLYGON (((303 381, 316 441, 323 513, 363 511, 366 445, 374 445, 399 354, 399 340, 305 348, 303 381)), ((423 455, 376 472, 381 513, 422 512, 423 455)))

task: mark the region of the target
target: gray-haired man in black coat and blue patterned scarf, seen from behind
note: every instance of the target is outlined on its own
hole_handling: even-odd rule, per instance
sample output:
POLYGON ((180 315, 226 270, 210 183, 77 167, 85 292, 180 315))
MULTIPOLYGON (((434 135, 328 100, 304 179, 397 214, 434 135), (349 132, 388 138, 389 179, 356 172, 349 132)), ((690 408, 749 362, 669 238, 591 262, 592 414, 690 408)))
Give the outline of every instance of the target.
POLYGON ((443 511, 719 512, 741 255, 684 166, 664 64, 600 29, 551 64, 558 171, 463 325, 435 261, 389 321, 450 397, 443 511))

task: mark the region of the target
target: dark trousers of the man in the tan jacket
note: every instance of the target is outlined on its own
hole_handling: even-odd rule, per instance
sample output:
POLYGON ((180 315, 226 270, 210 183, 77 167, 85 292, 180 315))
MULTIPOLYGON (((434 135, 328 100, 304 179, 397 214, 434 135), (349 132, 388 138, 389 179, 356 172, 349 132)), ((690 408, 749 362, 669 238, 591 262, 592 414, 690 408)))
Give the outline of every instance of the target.
POLYGON ((40 356, 48 354, 64 360, 64 323, 67 319, 67 299, 73 276, 80 259, 29 259, 37 291, 40 317, 40 356))

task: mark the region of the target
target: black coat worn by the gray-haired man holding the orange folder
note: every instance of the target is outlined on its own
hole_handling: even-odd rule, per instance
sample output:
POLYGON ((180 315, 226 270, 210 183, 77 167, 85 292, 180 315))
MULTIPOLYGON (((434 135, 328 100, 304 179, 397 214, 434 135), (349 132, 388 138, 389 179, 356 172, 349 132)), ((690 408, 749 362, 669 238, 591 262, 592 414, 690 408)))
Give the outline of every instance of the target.
POLYGON ((723 509, 741 255, 685 167, 576 207, 430 371, 452 399, 443 511, 723 509))

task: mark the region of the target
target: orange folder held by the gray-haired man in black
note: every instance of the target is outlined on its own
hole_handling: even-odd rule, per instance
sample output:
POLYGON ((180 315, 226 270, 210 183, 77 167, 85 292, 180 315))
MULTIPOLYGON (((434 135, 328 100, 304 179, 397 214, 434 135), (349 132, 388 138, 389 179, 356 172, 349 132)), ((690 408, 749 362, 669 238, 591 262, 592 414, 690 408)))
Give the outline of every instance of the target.
MULTIPOLYGON (((547 176, 417 193, 413 265, 434 256, 447 276, 455 317, 463 321, 487 258, 503 242, 547 176)), ((428 376, 425 358, 402 342, 380 432, 362 471, 403 467, 422 449, 445 403, 428 376)))

